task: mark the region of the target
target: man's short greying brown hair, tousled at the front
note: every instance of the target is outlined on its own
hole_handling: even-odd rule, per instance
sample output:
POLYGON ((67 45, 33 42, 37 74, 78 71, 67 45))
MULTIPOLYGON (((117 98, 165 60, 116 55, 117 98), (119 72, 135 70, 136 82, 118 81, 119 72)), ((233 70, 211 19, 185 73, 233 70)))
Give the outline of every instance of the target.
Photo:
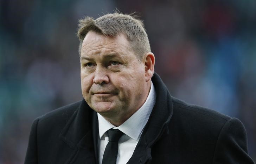
POLYGON ((136 15, 116 12, 103 15, 97 19, 87 16, 84 17, 84 19, 79 20, 78 27, 77 36, 80 41, 79 55, 81 55, 84 37, 89 31, 94 31, 110 37, 125 34, 130 43, 130 48, 140 60, 143 58, 144 54, 151 52, 144 24, 136 15))

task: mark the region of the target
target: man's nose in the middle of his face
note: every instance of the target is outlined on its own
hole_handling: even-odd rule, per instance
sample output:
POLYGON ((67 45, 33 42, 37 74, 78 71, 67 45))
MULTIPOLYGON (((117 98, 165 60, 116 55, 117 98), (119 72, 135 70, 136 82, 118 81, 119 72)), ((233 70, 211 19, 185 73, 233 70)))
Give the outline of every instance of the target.
POLYGON ((94 72, 93 82, 95 84, 107 84, 107 83, 109 83, 109 77, 108 77, 108 74, 107 74, 106 70, 104 70, 104 68, 101 68, 101 67, 96 68, 96 70, 94 72))

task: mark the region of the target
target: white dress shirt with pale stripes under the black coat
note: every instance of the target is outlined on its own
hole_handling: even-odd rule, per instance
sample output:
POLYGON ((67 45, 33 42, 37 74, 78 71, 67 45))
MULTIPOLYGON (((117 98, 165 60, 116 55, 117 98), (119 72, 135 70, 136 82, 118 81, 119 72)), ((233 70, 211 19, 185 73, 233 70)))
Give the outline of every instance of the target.
POLYGON ((124 135, 119 139, 116 164, 126 164, 129 161, 130 157, 133 155, 137 143, 140 140, 142 131, 148 122, 149 116, 155 105, 155 99, 155 88, 151 82, 151 89, 145 103, 119 127, 114 126, 105 120, 103 116, 97 114, 100 137, 98 141, 99 164, 102 164, 104 150, 108 144, 108 134, 106 132, 111 128, 119 129, 124 133, 124 135))

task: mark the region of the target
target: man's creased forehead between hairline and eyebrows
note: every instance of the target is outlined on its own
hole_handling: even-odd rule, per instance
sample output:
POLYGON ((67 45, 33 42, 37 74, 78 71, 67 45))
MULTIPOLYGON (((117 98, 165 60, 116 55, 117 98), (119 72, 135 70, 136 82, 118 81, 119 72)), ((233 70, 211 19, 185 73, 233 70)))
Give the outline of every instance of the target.
POLYGON ((102 53, 124 53, 128 49, 129 42, 124 34, 109 37, 89 31, 82 43, 81 56, 102 53))

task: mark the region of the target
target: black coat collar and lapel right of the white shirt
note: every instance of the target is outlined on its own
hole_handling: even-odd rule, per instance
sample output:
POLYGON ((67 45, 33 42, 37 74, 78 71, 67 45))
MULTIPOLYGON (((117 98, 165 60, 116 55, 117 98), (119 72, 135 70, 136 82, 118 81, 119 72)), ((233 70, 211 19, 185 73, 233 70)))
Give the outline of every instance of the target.
POLYGON ((156 102, 140 140, 127 164, 151 163, 151 148, 167 129, 173 114, 172 97, 158 74, 152 77, 156 102))

